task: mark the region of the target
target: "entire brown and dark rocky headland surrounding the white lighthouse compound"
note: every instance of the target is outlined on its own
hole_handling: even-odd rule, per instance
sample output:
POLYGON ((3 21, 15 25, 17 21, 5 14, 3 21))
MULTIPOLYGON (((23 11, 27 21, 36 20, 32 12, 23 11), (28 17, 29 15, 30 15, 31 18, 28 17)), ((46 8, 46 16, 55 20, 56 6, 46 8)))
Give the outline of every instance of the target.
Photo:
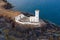
POLYGON ((0 0, 0 40, 60 40, 60 26, 43 20, 46 24, 42 27, 32 25, 20 25, 14 21, 14 17, 24 12, 13 11, 6 0, 0 0))

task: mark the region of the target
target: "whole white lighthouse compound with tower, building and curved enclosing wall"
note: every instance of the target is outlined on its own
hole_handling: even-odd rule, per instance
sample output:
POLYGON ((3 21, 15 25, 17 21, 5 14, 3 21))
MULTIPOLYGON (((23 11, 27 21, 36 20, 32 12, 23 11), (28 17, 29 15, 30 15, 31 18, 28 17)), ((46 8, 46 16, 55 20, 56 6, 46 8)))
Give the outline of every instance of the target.
POLYGON ((23 14, 20 14, 15 17, 15 21, 21 24, 39 24, 39 10, 35 10, 35 16, 26 17, 23 14))

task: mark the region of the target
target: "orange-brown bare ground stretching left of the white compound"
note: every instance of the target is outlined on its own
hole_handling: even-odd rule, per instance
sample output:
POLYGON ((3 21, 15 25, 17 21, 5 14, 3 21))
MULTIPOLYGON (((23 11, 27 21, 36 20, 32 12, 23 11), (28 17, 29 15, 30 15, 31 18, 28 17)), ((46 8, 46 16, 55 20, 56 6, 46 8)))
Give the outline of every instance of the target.
POLYGON ((9 9, 5 9, 3 6, 7 5, 6 2, 0 1, 0 16, 8 17, 8 18, 14 18, 17 15, 20 15, 21 12, 18 11, 12 11, 9 9))

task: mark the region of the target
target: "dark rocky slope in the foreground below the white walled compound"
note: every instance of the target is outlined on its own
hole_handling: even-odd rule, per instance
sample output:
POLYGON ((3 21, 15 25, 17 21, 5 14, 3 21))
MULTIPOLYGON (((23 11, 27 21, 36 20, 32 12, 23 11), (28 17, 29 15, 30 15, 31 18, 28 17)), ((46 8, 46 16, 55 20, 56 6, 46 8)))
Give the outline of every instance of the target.
POLYGON ((26 29, 13 20, 0 16, 0 35, 5 40, 60 40, 60 27, 44 21, 46 25, 43 27, 26 29))

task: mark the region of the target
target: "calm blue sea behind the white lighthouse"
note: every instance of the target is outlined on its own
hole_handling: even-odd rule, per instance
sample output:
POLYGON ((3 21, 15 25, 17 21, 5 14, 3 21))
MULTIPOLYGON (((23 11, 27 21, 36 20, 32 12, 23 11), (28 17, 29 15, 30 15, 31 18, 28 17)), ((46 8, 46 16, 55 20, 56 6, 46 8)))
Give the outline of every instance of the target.
POLYGON ((60 0, 8 0, 14 10, 33 13, 40 10, 40 18, 60 25, 60 0))

